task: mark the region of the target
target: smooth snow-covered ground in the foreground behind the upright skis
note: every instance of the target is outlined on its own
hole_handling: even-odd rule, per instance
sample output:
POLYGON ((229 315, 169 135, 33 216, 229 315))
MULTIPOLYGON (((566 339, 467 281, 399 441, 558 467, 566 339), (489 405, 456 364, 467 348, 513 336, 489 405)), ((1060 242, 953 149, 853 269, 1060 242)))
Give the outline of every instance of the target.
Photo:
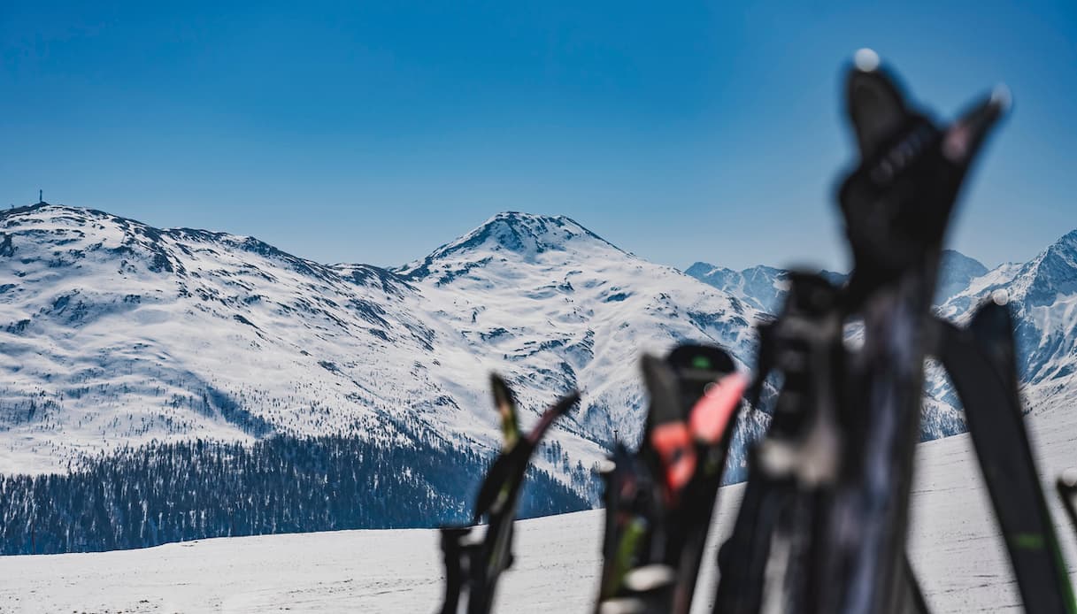
MULTIPOLYGON (((1077 465, 1077 411, 1032 418, 1045 486, 1077 465)), ((918 450, 910 552, 935 612, 1020 611, 968 435, 918 450)), ((724 488, 725 534, 742 485, 724 488)), ((1077 545, 1049 490, 1077 580, 1077 545)), ((599 571, 602 512, 518 524, 516 567, 499 612, 588 612, 599 571)), ((707 560, 713 561, 716 539, 707 560)), ((433 612, 442 561, 431 530, 233 538, 100 554, 0 557, 0 612, 433 612)), ((713 564, 697 611, 709 611, 713 564)))

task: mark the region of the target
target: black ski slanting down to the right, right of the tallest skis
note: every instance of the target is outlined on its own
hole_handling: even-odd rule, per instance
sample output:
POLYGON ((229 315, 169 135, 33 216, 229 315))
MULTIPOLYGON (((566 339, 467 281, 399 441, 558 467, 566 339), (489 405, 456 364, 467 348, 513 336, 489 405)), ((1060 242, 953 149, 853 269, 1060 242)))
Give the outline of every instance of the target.
POLYGON ((1009 310, 988 303, 967 331, 941 327, 939 358, 965 408, 1025 610, 1077 613, 1024 425, 1009 310))

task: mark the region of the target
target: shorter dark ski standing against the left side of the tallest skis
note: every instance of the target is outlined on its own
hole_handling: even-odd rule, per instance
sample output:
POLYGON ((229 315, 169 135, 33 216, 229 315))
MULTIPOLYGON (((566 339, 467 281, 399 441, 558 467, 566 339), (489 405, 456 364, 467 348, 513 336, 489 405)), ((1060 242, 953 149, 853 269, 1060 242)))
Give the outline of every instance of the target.
POLYGON ((820 524, 814 506, 837 479, 841 449, 839 296, 826 279, 793 273, 778 319, 759 326, 758 364, 746 402, 758 407, 772 371, 781 374, 782 388, 766 437, 750 452, 732 534, 718 552, 716 613, 755 613, 768 604, 786 611, 810 587, 807 536, 820 524))

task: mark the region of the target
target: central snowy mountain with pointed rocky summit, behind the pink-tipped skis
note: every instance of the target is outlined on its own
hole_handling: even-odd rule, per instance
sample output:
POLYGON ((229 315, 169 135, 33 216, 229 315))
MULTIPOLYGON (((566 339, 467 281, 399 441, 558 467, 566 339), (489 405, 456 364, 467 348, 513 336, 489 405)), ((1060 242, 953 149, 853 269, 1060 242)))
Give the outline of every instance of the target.
POLYGON ((500 364, 532 390, 579 388, 575 424, 607 443, 614 430, 634 441, 642 428, 641 351, 710 341, 744 361, 759 318, 564 217, 500 213, 395 273, 442 306, 431 319, 459 331, 462 351, 500 364))

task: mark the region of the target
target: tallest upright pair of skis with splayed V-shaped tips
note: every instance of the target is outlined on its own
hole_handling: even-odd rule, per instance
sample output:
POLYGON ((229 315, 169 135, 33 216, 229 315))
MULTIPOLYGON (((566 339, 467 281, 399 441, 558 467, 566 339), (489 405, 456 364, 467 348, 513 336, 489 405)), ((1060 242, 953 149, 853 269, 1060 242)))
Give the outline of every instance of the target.
POLYGON ((878 56, 862 52, 847 81, 859 165, 839 203, 854 268, 843 318, 864 322, 848 357, 842 458, 820 501, 807 612, 899 608, 912 461, 942 238, 967 171, 1008 106, 996 93, 938 127, 906 101, 878 56))

